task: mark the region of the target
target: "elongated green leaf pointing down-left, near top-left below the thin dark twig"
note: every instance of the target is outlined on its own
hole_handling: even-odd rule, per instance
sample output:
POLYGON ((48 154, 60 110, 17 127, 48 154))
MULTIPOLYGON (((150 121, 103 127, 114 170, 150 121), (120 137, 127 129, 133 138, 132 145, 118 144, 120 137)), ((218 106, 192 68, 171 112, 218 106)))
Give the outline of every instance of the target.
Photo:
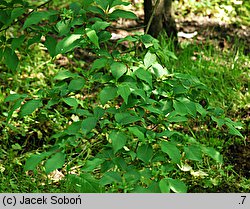
POLYGON ((32 12, 31 15, 26 19, 23 25, 23 29, 31 26, 36 25, 43 19, 48 19, 52 15, 56 15, 57 11, 38 11, 38 12, 32 12))

